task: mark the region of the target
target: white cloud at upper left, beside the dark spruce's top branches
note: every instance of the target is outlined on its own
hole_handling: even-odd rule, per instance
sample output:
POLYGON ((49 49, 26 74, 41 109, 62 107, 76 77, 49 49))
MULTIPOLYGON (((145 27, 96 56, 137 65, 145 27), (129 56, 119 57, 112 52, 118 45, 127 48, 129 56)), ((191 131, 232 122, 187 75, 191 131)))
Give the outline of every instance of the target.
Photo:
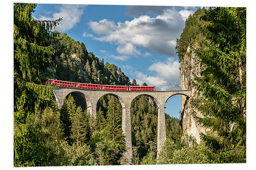
POLYGON ((83 10, 86 5, 59 5, 57 6, 57 12, 53 13, 52 16, 43 16, 40 15, 38 20, 56 20, 61 17, 63 19, 59 22, 59 25, 55 28, 55 30, 59 32, 65 32, 72 29, 76 23, 81 20, 81 16, 83 14, 83 10))

